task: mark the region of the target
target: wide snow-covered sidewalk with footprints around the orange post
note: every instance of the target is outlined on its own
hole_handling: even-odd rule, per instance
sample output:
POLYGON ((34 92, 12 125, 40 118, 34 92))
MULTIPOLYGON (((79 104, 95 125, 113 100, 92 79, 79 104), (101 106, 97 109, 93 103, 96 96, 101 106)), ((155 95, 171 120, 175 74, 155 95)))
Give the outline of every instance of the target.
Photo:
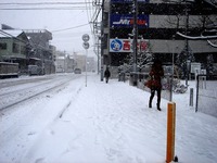
MULTIPOLYGON (((42 130, 38 129, 39 134, 16 162, 165 162, 167 100, 162 100, 162 112, 154 106, 156 97, 149 109, 149 92, 117 79, 105 84, 93 74, 88 75, 87 87, 84 77, 65 89, 44 105, 47 114, 55 112, 55 118, 42 130)), ((188 106, 188 92, 174 95, 174 102, 177 103, 175 152, 179 162, 216 163, 217 118, 188 106)), ((41 117, 41 122, 48 121, 44 115, 41 117)), ((0 150, 1 158, 3 149, 0 150)), ((12 160, 13 153, 10 156, 12 160)))

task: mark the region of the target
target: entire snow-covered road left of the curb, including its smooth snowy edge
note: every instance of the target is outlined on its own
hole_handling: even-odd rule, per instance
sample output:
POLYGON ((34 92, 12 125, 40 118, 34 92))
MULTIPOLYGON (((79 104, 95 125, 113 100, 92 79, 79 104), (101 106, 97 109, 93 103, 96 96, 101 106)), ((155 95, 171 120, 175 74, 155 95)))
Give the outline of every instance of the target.
MULTIPOLYGON (((1 83, 8 83, 10 87, 7 87, 7 85, 4 85, 4 88, 1 89, 1 95, 3 95, 3 92, 8 95, 8 99, 7 101, 3 101, 1 99, 0 103, 13 101, 14 97, 18 97, 18 95, 24 95, 25 97, 28 97, 33 93, 38 93, 39 91, 47 90, 48 87, 50 88, 59 86, 62 83, 65 84, 65 82, 67 82, 68 79, 79 77, 80 76, 78 75, 73 77, 69 74, 44 77, 35 76, 30 77, 30 83, 28 83, 28 77, 1 80, 1 83), (35 82, 33 80, 33 78, 35 82), (17 86, 15 86, 14 84, 15 80, 17 80, 18 83, 17 86), (27 92, 23 93, 22 90, 27 92), (11 95, 9 92, 13 93, 11 95)), ((67 83, 67 85, 63 85, 58 89, 53 89, 53 91, 47 91, 46 93, 37 96, 35 99, 22 102, 15 106, 11 106, 0 112, 0 151, 3 152, 3 154, 5 155, 13 154, 12 159, 5 161, 17 162, 16 156, 18 160, 21 159, 24 151, 28 150, 29 143, 31 143, 31 141, 37 137, 37 134, 43 130, 43 128, 47 127, 50 122, 52 122, 61 114, 65 104, 69 100, 62 99, 61 102, 58 102, 56 104, 55 100, 54 103, 52 100, 62 91, 64 92, 65 88, 69 84, 71 83, 67 83), (4 150, 2 151, 1 149, 4 150)), ((75 87, 75 89, 79 89, 79 87, 75 87)), ((18 99, 21 98, 23 97, 20 97, 18 99)), ((15 99, 17 100, 17 98, 15 99)), ((0 162, 3 163, 4 160, 2 159, 4 156, 1 155, 0 158, 0 162)))

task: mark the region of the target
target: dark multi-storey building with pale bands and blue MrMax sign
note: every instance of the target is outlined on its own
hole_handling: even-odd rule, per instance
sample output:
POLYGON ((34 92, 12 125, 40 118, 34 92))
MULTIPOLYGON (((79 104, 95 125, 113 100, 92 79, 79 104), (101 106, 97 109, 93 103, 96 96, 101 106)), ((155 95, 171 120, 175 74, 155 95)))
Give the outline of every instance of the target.
POLYGON ((136 9, 133 0, 106 1, 101 30, 103 64, 131 64, 135 10, 137 62, 142 53, 143 58, 145 53, 152 53, 152 58, 159 58, 164 63, 170 64, 174 54, 176 64, 182 68, 187 66, 188 61, 201 62, 206 66, 208 55, 217 62, 217 48, 205 39, 194 39, 202 35, 216 35, 212 32, 217 26, 216 5, 207 1, 138 0, 136 9), (178 34, 191 36, 193 39, 186 39, 178 34))

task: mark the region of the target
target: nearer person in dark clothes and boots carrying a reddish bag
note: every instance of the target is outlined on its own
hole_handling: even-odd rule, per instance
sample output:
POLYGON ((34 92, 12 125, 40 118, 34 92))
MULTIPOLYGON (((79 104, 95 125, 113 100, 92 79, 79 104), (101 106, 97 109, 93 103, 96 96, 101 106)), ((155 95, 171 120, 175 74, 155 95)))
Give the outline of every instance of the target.
POLYGON ((164 70, 162 66, 162 62, 159 60, 155 60, 152 68, 150 71, 150 77, 152 80, 152 85, 150 87, 151 89, 151 96, 149 101, 149 108, 152 108, 152 100, 154 98, 155 91, 157 93, 157 110, 161 111, 161 93, 162 93, 162 77, 164 76, 164 70))

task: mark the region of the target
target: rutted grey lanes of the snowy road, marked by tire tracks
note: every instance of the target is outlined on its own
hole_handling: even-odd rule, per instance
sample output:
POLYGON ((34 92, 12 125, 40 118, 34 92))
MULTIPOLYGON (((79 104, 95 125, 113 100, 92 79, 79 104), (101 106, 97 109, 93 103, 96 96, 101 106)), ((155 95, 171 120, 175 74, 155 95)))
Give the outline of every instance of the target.
POLYGON ((49 75, 0 80, 0 110, 17 105, 26 100, 41 96, 41 93, 61 89, 75 77, 72 75, 49 75))

